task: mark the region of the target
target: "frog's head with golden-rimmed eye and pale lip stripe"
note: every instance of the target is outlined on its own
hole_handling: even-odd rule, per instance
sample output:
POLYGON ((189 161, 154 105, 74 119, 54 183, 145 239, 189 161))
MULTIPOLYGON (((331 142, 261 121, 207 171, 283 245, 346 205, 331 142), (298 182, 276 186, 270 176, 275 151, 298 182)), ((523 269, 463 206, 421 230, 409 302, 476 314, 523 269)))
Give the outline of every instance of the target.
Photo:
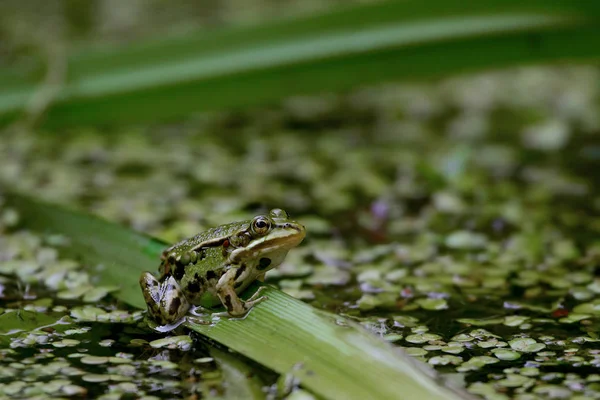
POLYGON ((268 215, 254 217, 244 229, 230 237, 229 260, 267 271, 281 264, 288 251, 298 246, 305 235, 302 224, 275 208, 268 215))

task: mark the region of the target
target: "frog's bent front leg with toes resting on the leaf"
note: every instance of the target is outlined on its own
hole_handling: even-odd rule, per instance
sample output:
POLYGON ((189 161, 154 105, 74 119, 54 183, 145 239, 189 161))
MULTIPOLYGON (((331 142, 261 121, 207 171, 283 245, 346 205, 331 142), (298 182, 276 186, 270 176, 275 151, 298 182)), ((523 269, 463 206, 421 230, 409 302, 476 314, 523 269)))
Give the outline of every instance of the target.
MULTIPOLYGON (((235 284, 248 279, 249 273, 250 271, 246 270, 244 267, 230 268, 223 276, 221 276, 219 282, 217 282, 217 296, 219 296, 221 303, 223 303, 227 309, 227 313, 232 317, 243 317, 252 307, 267 299, 266 296, 261 296, 262 291, 266 289, 265 287, 260 287, 256 293, 246 301, 239 298, 235 292, 235 284)), ((217 313, 214 315, 225 316, 225 313, 217 313)))

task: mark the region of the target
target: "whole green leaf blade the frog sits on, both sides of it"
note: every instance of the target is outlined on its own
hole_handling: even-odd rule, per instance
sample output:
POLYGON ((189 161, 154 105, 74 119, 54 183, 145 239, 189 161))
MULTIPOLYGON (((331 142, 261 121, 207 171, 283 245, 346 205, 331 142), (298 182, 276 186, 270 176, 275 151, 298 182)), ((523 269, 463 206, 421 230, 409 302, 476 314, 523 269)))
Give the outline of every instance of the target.
MULTIPOLYGON (((102 283, 121 285, 119 299, 143 306, 137 279, 155 270, 164 244, 101 219, 7 194, 25 227, 61 233, 88 261, 100 262, 102 283)), ((357 324, 317 310, 269 287, 269 300, 244 320, 188 324, 210 339, 277 371, 329 399, 461 399, 436 374, 357 324)))

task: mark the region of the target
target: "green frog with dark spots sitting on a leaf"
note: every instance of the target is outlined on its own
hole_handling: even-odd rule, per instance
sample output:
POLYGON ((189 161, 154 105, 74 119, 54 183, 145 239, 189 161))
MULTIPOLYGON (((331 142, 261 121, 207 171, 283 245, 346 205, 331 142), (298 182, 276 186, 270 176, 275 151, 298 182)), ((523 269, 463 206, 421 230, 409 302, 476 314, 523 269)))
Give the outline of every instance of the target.
MULTIPOLYGON (((155 330, 165 332, 185 321, 190 310, 205 310, 208 297, 226 311, 219 317, 244 317, 267 299, 261 286, 250 298, 239 294, 279 266, 306 235, 305 227, 275 208, 251 220, 232 222, 199 233, 162 252, 159 278, 144 272, 140 287, 155 330)), ((192 312, 192 314, 194 314, 192 312)))

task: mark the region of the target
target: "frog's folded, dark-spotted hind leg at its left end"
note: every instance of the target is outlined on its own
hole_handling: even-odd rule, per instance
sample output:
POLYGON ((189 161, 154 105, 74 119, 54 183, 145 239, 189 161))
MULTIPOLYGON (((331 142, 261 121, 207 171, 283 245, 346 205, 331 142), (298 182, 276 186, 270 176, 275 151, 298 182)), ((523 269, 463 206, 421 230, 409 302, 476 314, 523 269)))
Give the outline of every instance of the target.
POLYGON ((144 272, 140 286, 148 314, 158 325, 171 325, 181 320, 190 308, 185 294, 172 276, 159 282, 154 275, 144 272))

